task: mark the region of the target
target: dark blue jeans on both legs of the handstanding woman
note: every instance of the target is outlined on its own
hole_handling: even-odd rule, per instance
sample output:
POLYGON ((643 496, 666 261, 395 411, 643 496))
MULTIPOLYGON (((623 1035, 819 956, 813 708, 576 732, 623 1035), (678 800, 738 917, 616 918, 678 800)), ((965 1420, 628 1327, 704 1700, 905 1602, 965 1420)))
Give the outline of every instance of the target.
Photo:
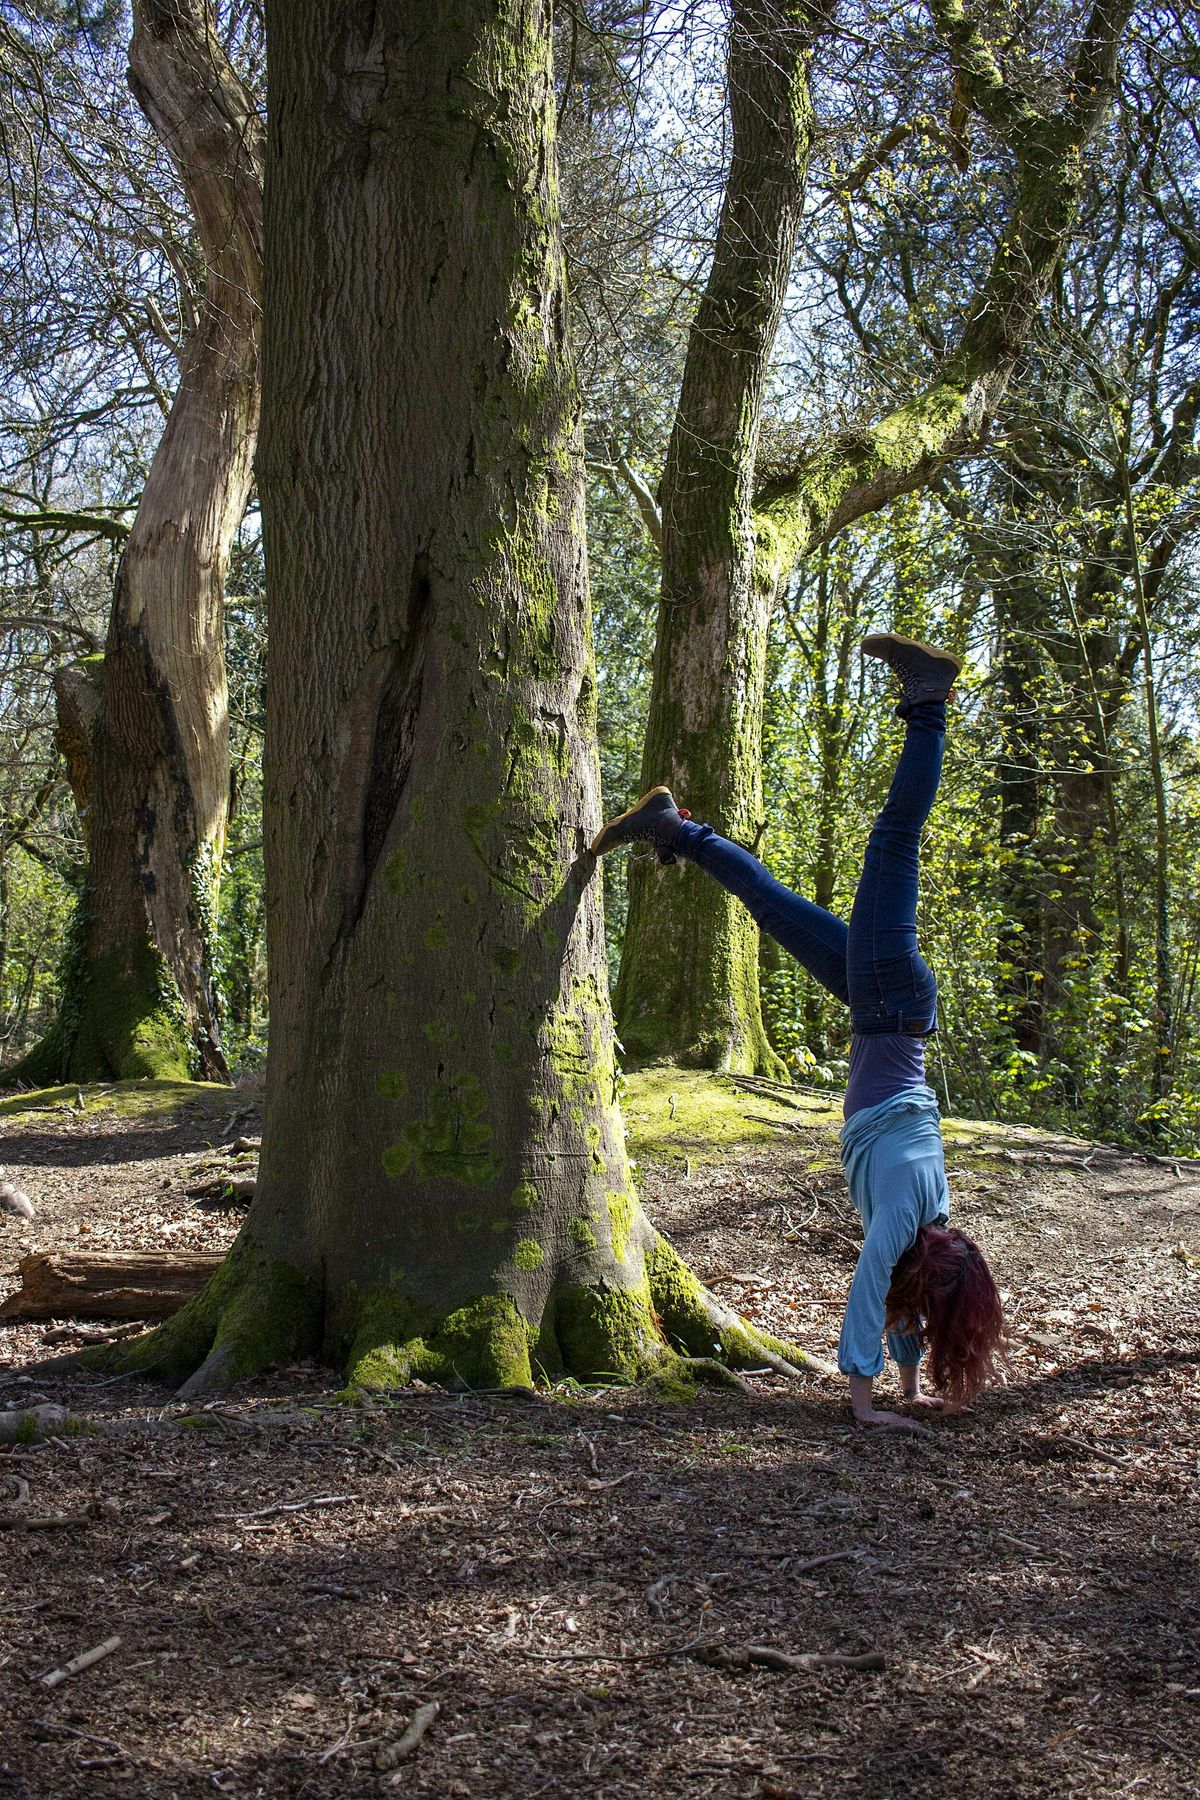
POLYGON ((937 981, 918 949, 921 826, 928 819, 946 742, 946 707, 910 707, 905 743, 883 810, 871 826, 846 925, 766 873, 741 844, 684 821, 675 853, 687 857, 750 911, 761 929, 849 1006, 864 1035, 937 1028, 937 981))

